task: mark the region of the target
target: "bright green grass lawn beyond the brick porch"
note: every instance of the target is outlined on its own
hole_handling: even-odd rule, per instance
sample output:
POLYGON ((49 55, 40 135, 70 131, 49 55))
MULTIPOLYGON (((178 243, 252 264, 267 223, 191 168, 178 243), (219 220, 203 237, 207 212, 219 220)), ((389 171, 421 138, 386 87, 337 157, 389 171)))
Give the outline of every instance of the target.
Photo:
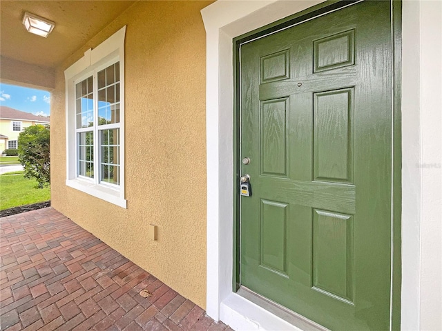
POLYGON ((37 181, 24 178, 23 173, 0 175, 0 210, 50 200, 50 186, 37 188, 37 181))

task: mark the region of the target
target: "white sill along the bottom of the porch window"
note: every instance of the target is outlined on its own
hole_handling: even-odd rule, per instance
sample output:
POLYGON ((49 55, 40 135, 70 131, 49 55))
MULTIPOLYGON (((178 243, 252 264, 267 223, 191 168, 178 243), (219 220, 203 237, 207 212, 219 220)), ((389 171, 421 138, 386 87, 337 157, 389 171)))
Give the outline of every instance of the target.
POLYGON ((104 185, 96 185, 95 183, 90 183, 88 181, 77 178, 67 179, 66 186, 90 194, 93 197, 102 199, 104 201, 107 201, 108 203, 113 203, 114 205, 118 205, 119 207, 127 208, 127 201, 126 199, 122 199, 122 197, 120 197, 120 193, 118 190, 113 190, 112 188, 107 188, 104 185))

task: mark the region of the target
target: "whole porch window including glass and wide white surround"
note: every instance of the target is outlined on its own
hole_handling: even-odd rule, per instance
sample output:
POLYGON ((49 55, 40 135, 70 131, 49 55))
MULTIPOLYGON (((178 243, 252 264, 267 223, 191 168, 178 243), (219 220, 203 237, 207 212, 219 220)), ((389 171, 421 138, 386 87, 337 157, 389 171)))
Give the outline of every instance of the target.
POLYGON ((65 71, 66 185, 126 208, 124 34, 125 27, 65 71))

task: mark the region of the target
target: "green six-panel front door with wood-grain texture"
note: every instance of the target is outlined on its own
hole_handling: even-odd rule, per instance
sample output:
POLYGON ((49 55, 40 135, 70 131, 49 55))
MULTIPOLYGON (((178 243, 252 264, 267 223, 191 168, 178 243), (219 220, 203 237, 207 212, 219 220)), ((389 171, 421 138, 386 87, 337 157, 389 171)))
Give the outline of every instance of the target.
POLYGON ((388 330, 392 34, 364 1, 240 46, 240 284, 332 330, 388 330))

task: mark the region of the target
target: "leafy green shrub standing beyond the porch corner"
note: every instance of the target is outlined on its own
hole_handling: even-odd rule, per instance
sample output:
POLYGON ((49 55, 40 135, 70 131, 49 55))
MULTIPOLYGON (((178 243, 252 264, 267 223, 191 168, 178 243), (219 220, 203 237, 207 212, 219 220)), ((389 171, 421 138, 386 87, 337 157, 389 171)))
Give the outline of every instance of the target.
POLYGON ((50 183, 49 126, 28 126, 19 134, 19 161, 25 177, 35 177, 39 188, 50 183))

